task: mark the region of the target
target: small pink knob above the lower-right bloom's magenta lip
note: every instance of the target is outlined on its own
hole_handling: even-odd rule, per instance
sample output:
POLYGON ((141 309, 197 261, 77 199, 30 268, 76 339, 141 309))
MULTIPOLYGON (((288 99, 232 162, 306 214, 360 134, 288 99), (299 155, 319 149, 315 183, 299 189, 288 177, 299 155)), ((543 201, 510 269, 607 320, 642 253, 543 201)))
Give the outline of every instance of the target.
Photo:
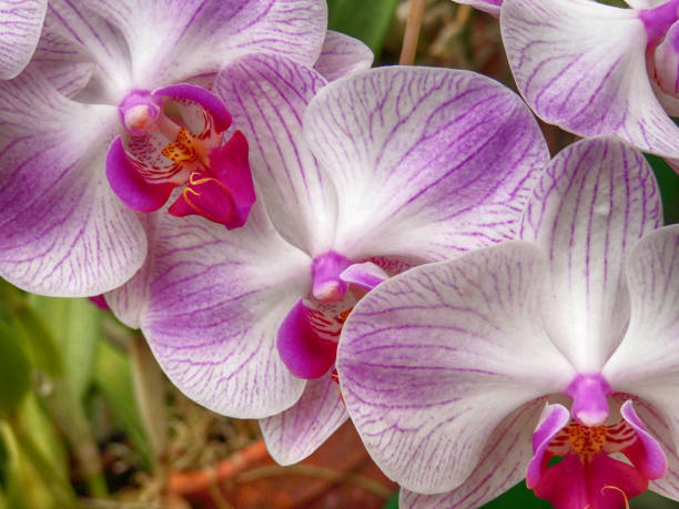
POLYGON ((600 426, 608 418, 610 386, 599 375, 578 375, 566 388, 565 394, 572 399, 572 416, 585 426, 600 426))

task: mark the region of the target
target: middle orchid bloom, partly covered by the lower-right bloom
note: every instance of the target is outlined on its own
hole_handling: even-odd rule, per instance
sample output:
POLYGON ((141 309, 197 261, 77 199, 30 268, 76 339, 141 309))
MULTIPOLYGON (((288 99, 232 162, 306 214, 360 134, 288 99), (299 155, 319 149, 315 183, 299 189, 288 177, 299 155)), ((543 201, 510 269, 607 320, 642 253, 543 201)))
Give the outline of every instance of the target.
POLYGON ((247 55, 215 91, 250 142, 247 224, 161 215, 145 269, 107 302, 184 394, 261 418, 271 454, 291 464, 347 418, 333 370, 355 302, 412 265, 513 237, 547 147, 516 94, 465 71, 382 68, 326 84, 247 55))

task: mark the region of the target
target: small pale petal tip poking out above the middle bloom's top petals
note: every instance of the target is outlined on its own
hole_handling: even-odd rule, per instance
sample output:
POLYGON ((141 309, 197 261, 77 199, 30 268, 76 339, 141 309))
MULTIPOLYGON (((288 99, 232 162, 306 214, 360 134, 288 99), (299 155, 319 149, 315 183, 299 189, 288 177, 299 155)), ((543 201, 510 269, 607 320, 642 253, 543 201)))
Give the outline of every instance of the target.
POLYGON ((374 58, 371 49, 358 39, 328 30, 314 69, 327 81, 333 81, 369 69, 374 58))

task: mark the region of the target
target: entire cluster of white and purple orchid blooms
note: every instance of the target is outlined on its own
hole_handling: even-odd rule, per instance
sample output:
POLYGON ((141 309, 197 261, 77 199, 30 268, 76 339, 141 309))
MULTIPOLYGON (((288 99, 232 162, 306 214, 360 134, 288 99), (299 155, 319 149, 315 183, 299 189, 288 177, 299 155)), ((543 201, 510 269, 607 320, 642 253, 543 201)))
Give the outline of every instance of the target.
POLYGON ((0 1, 0 275, 95 296, 300 461, 402 507, 679 500, 679 0, 469 0, 523 95, 369 69, 324 0, 0 1), (584 139, 550 161, 534 113, 584 139), (556 458, 556 459, 555 459, 556 458))

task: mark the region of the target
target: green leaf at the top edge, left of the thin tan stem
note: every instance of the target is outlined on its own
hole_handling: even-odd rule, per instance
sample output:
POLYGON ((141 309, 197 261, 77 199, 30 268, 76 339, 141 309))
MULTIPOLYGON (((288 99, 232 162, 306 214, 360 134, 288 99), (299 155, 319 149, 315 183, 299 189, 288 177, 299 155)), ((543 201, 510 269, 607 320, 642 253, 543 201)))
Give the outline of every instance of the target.
POLYGON ((365 42, 382 53, 399 0, 328 0, 328 28, 365 42))

